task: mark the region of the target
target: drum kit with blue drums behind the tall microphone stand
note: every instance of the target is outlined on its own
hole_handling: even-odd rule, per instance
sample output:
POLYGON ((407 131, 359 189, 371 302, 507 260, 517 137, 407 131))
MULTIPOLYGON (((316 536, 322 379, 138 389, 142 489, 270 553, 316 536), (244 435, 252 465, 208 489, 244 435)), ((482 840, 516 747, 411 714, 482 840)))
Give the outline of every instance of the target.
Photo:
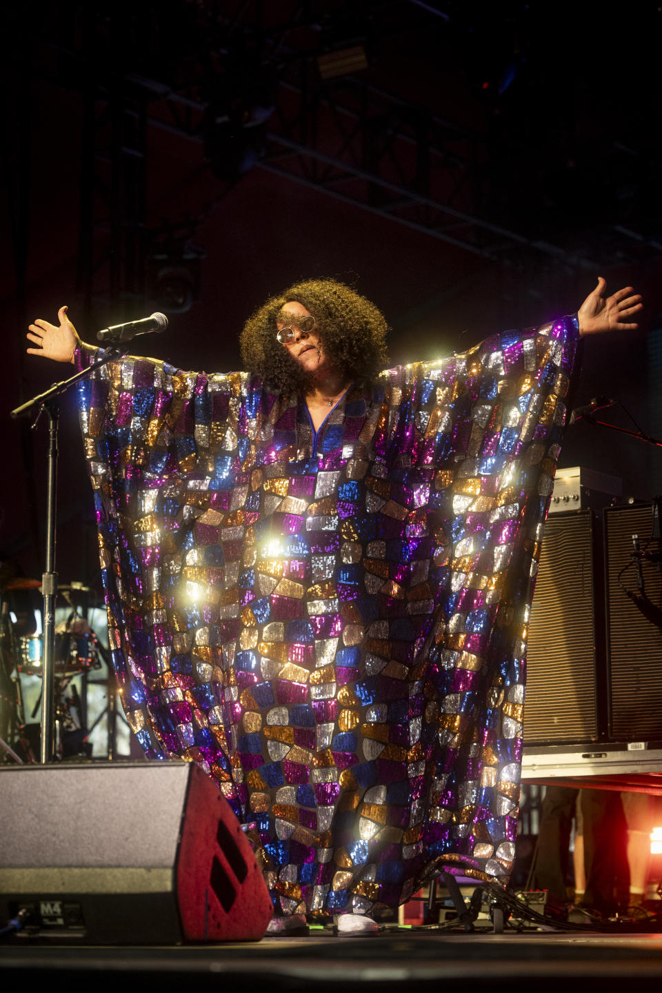
MULTIPOLYGON (((4 578, 0 584, 0 763, 39 762, 44 638, 41 614, 35 607, 39 580, 4 578), (35 630, 36 629, 36 630, 35 630), (32 679, 28 678, 32 677, 32 679), (37 677, 37 680, 35 679, 37 677), (24 685, 38 683, 38 699, 26 713, 24 685)), ((105 649, 87 620, 89 587, 81 583, 59 586, 57 613, 66 615, 56 627, 55 742, 58 760, 91 758, 86 723, 88 674, 101 668, 105 649), (80 691, 74 679, 80 684, 80 691)))

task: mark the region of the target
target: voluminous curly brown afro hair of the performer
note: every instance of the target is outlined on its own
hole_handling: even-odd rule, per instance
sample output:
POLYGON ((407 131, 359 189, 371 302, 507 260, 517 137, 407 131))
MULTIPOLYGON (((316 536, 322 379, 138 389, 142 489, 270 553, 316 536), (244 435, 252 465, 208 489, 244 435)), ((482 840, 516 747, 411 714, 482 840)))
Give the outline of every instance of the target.
POLYGON ((357 386, 373 382, 388 362, 386 321, 369 300, 333 279, 295 283, 255 311, 239 340, 248 371, 283 395, 310 391, 311 374, 276 341, 278 313, 294 301, 315 318, 316 330, 335 368, 357 386))

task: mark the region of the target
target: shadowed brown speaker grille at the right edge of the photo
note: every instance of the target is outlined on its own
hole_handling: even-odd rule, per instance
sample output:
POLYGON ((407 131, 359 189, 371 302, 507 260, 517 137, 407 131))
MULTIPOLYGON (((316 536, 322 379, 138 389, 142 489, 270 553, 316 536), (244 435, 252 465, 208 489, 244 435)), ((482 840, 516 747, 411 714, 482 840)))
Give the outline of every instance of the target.
MULTIPOLYGON (((650 504, 609 507, 606 528, 606 591, 608 660, 611 697, 609 734, 620 741, 662 738, 662 633, 618 586, 617 576, 630 561, 632 535, 643 547, 651 532, 650 504)), ((654 542, 651 550, 658 551, 654 542)), ((662 605, 662 582, 656 565, 642 563, 646 597, 662 605)), ((626 589, 636 590, 631 566, 622 576, 626 589)))

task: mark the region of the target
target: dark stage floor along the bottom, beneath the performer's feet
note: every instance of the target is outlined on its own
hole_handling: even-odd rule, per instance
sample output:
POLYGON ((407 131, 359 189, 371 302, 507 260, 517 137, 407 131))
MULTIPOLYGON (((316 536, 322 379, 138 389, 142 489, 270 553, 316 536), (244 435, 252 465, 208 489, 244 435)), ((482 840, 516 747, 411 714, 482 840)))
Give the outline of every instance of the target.
POLYGON ((254 943, 170 947, 23 945, 0 947, 5 989, 26 981, 56 982, 69 991, 440 989, 468 981, 473 989, 586 989, 650 983, 662 978, 662 933, 594 931, 463 934, 387 930, 369 938, 263 938, 254 943), (229 984, 229 985, 228 985, 229 984))

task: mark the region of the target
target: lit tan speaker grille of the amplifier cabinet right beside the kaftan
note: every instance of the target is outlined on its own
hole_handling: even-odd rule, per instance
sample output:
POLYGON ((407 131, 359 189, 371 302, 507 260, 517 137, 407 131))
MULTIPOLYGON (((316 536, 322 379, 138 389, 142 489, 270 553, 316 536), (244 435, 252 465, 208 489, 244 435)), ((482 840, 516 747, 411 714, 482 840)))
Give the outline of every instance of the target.
POLYGON ((527 648, 524 741, 597 738, 591 511, 545 527, 527 648))

